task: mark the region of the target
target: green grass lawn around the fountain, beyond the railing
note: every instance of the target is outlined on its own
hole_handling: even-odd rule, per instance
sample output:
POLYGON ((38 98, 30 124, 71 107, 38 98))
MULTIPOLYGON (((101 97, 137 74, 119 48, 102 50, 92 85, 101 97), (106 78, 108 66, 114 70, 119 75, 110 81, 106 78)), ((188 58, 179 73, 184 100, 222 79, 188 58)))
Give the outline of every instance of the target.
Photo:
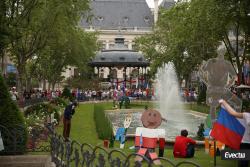
MULTIPOLYGON (((144 108, 144 102, 133 103, 131 105, 132 108, 144 108)), ((112 103, 103 103, 102 104, 106 109, 112 108, 112 103)), ((152 106, 152 104, 149 104, 152 106)), ((77 140, 80 143, 89 143, 92 145, 103 145, 103 141, 98 139, 97 133, 95 131, 95 123, 93 120, 93 109, 94 104, 80 104, 77 108, 75 115, 72 118, 72 127, 71 127, 71 134, 70 138, 77 140)), ((60 124, 57 128, 58 133, 62 134, 62 124, 60 124)), ((133 141, 128 141, 125 144, 125 149, 123 150, 125 153, 134 153, 134 150, 130 150, 129 147, 133 146, 133 141)), ((119 148, 119 143, 115 142, 115 148, 119 148)), ((195 157, 192 159, 174 159, 172 155, 172 147, 167 147, 165 149, 164 157, 169 158, 171 160, 177 161, 184 161, 184 160, 191 160, 202 167, 212 167, 213 166, 213 158, 210 157, 208 154, 205 154, 203 148, 197 148, 195 157)), ((217 166, 220 167, 236 167, 236 161, 223 161, 220 160, 220 157, 217 157, 217 166)))

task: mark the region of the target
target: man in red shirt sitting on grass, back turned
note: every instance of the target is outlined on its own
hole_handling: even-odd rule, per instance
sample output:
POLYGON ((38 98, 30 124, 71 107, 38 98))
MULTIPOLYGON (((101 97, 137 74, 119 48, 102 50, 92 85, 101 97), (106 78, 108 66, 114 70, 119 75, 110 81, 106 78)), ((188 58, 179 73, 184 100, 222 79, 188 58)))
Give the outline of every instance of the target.
POLYGON ((181 136, 175 138, 174 157, 175 158, 191 158, 194 157, 194 145, 196 142, 188 138, 188 131, 186 129, 181 131, 181 136))

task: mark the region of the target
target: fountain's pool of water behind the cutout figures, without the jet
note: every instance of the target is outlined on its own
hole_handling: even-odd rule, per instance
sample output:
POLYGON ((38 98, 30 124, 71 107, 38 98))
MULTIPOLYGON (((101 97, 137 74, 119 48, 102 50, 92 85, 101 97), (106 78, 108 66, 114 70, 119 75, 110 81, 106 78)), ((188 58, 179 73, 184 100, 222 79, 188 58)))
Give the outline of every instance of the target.
MULTIPOLYGON (((121 110, 105 110, 107 117, 110 119, 113 128, 123 127, 123 122, 128 114, 132 115, 132 122, 127 130, 128 137, 135 136, 135 130, 137 127, 142 127, 141 114, 144 109, 121 109, 121 110)), ((172 112, 178 112, 172 111, 172 112)), ((170 113, 171 114, 171 113, 170 113)), ((205 122, 207 114, 184 110, 181 114, 185 114, 185 122, 178 117, 175 119, 168 120, 167 123, 162 122, 159 128, 166 130, 166 141, 174 141, 176 136, 180 135, 182 129, 187 129, 189 137, 195 137, 198 131, 198 126, 205 122)))

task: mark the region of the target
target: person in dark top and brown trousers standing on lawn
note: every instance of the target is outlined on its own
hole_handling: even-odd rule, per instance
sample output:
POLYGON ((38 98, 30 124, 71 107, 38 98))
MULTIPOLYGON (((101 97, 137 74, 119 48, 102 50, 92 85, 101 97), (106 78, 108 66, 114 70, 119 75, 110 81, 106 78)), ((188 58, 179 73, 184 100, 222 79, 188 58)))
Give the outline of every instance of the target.
POLYGON ((75 108, 77 106, 76 102, 73 102, 65 107, 63 115, 63 137, 65 141, 68 141, 70 128, 71 128, 71 118, 75 113, 75 108))

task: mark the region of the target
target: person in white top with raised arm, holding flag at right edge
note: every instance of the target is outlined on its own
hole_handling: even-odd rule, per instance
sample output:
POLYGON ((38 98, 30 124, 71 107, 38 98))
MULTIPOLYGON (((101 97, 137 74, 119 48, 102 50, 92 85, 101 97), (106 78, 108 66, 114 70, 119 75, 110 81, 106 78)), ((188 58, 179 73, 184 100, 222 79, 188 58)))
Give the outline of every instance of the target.
MULTIPOLYGON (((249 149, 250 150, 250 113, 249 112, 236 112, 225 100, 219 100, 219 103, 222 104, 226 111, 233 115, 236 118, 239 118, 241 124, 245 127, 245 133, 243 135, 240 149, 249 149)), ((238 167, 248 167, 248 161, 239 161, 238 167)))

